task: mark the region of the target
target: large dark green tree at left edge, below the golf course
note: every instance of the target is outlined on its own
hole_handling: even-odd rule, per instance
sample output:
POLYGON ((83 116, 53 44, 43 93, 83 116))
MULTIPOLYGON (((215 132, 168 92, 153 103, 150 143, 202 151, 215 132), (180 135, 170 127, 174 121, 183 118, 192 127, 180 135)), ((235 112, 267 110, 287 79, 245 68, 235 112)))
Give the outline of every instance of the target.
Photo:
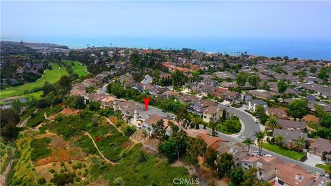
POLYGON ((0 134, 3 138, 12 139, 17 136, 17 124, 20 121, 19 112, 12 108, 0 110, 1 130, 0 134))

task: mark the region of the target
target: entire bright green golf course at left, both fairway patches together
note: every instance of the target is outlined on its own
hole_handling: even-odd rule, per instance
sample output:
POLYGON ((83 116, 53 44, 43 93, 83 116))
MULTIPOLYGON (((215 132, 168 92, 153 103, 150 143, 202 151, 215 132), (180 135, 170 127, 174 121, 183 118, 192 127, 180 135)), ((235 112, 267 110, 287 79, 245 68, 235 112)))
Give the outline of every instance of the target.
MULTIPOLYGON (((66 63, 74 63, 72 69, 74 73, 78 74, 79 76, 86 76, 88 74, 88 72, 86 72, 86 66, 83 65, 83 63, 80 63, 79 61, 63 61, 65 61, 66 63)), ((68 75, 66 68, 59 68, 59 65, 57 63, 52 63, 50 65, 52 65, 52 70, 46 70, 43 73, 41 79, 32 83, 26 83, 17 87, 9 87, 4 90, 0 90, 0 99, 5 99, 12 96, 23 96, 25 90, 32 91, 34 88, 42 87, 43 84, 46 83, 46 81, 49 83, 55 83, 59 81, 61 76, 68 75)), ((39 98, 41 93, 33 92, 27 95, 37 96, 37 98, 39 98)))

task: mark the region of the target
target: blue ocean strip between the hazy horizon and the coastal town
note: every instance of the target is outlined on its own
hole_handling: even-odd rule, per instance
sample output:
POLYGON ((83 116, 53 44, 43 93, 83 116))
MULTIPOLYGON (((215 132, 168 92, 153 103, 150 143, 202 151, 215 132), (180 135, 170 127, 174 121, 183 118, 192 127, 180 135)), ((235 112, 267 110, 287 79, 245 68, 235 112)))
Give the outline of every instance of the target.
POLYGON ((255 56, 289 56, 298 59, 331 60, 331 41, 328 39, 275 39, 275 38, 22 38, 1 39, 55 43, 69 48, 116 46, 126 48, 182 49, 190 48, 203 52, 220 52, 237 55, 248 52, 255 56))

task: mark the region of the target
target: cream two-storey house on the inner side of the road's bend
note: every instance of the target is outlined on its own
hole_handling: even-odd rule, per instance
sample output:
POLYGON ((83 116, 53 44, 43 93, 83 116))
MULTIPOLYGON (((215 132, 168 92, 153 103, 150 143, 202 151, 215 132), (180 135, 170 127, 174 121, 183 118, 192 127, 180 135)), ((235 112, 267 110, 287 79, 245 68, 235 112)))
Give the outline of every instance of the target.
POLYGON ((203 121, 204 122, 218 122, 221 120, 222 117, 225 118, 230 118, 230 114, 228 112, 226 112, 226 110, 224 110, 221 107, 217 107, 214 105, 210 105, 208 107, 205 107, 203 109, 203 121), (223 115, 224 114, 224 115, 223 115))

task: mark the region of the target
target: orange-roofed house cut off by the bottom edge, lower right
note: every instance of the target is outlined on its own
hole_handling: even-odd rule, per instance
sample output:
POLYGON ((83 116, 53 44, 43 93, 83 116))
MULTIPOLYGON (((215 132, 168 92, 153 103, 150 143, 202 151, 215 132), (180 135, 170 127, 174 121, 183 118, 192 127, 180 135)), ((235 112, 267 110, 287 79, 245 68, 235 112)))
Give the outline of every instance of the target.
POLYGON ((306 173, 297 166, 279 164, 276 165, 275 186, 306 186, 314 184, 314 176, 306 173))

